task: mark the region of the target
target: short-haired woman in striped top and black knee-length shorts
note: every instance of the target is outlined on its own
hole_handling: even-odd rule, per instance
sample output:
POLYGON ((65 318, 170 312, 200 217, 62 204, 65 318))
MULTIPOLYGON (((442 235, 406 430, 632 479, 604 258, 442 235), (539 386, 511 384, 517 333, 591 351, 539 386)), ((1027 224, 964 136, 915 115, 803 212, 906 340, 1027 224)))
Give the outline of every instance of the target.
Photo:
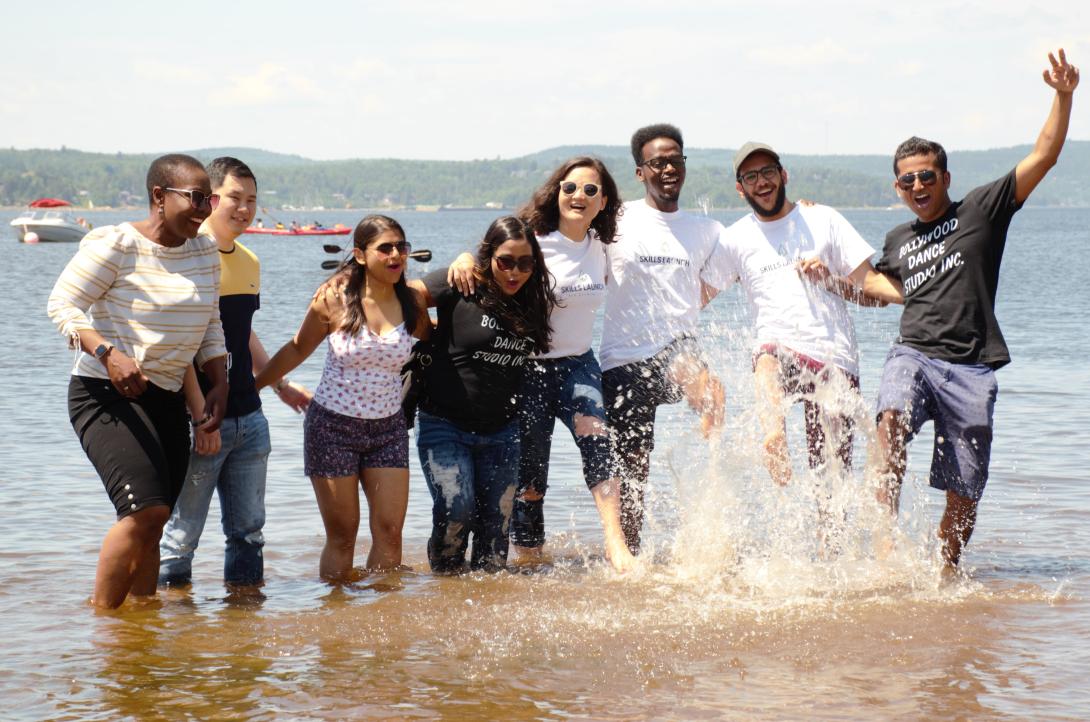
POLYGON ((217 197, 201 161, 180 154, 152 163, 147 197, 144 220, 87 233, 49 296, 50 318, 82 350, 72 426, 118 515, 92 598, 110 609, 155 594, 159 537, 189 457, 181 388, 191 363, 209 380, 194 425, 215 431, 227 408, 219 258, 198 234, 217 197))

